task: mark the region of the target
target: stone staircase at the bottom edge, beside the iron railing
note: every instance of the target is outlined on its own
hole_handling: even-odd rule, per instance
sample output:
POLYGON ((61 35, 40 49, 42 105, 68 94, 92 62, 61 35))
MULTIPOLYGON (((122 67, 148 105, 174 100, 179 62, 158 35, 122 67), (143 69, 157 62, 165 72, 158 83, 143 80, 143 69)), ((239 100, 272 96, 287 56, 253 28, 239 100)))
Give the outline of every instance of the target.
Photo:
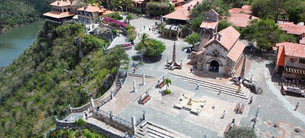
POLYGON ((140 125, 135 134, 137 138, 191 138, 170 128, 158 125, 151 121, 145 121, 140 125))

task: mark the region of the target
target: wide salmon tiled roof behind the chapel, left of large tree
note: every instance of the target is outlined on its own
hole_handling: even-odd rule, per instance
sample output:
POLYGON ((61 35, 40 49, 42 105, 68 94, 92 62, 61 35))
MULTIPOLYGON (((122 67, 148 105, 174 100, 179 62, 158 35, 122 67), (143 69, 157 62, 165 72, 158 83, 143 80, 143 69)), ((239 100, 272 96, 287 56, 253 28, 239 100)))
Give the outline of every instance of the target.
POLYGON ((244 13, 231 13, 231 17, 228 17, 227 20, 230 21, 233 26, 247 27, 248 22, 253 19, 258 19, 258 17, 244 13))

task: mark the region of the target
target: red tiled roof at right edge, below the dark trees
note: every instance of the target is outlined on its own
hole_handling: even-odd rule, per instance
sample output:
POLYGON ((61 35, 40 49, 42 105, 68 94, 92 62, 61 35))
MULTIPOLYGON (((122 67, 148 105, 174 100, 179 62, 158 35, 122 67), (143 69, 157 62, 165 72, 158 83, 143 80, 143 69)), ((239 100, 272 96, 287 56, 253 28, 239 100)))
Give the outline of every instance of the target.
POLYGON ((304 25, 295 25, 290 23, 279 23, 279 27, 281 30, 287 31, 290 34, 301 35, 301 33, 305 33, 305 26, 304 25))

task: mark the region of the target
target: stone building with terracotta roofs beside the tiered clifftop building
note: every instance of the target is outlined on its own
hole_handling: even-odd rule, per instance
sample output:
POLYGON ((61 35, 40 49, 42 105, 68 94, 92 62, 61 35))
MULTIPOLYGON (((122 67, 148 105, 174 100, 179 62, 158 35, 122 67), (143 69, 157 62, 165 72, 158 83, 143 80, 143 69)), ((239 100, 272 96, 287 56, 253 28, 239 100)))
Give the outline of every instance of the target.
POLYGON ((85 7, 81 7, 77 9, 78 13, 78 21, 81 23, 87 23, 91 24, 93 18, 97 16, 107 15, 107 14, 113 14, 112 11, 104 9, 104 6, 97 6, 95 4, 91 5, 88 4, 85 7))

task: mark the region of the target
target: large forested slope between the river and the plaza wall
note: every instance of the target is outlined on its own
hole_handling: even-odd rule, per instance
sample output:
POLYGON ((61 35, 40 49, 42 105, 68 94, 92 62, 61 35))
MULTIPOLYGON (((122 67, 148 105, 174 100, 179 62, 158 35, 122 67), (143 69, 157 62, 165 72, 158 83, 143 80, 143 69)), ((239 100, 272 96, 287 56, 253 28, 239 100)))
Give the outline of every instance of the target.
MULTIPOLYGON (((79 107, 108 89, 103 80, 110 70, 103 62, 109 58, 101 49, 106 42, 84 35, 83 29, 45 22, 34 43, 1 68, 0 137, 44 137, 55 127, 54 115, 60 117, 69 104, 79 107)), ((124 50, 113 51, 128 60, 124 50)))

